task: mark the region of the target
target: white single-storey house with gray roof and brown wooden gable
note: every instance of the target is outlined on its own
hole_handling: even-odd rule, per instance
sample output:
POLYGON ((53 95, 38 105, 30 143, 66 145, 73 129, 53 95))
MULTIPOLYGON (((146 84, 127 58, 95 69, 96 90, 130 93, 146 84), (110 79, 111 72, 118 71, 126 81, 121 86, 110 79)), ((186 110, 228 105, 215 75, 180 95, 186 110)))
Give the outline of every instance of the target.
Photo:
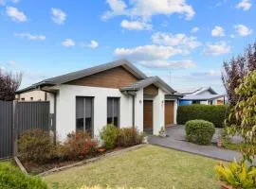
MULTIPOLYGON (((173 88, 159 77, 147 77, 127 60, 117 60, 59 77, 45 79, 17 92, 19 100, 45 94, 58 137, 76 129, 98 137, 107 124, 136 127, 155 135, 176 124, 173 88)), ((41 99, 41 98, 40 98, 41 99)), ((43 99, 41 99, 43 100, 43 99)))

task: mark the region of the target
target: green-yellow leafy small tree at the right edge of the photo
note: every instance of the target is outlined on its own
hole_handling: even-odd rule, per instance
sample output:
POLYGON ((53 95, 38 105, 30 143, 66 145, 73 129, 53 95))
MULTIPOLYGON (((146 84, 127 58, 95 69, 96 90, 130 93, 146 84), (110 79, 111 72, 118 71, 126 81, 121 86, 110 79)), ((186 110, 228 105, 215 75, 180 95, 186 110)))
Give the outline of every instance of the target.
POLYGON ((230 117, 241 120, 240 125, 232 125, 231 132, 238 132, 251 146, 243 149, 247 160, 256 155, 256 70, 248 74, 235 90, 239 103, 234 107, 230 117))

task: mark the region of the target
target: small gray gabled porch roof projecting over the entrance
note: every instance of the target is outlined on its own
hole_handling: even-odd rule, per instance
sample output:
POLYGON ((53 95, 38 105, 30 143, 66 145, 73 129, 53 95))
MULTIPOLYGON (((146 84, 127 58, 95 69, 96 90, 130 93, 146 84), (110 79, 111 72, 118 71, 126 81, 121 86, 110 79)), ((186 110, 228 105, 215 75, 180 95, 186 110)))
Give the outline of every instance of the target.
POLYGON ((155 84, 155 86, 163 89, 168 94, 174 94, 175 91, 172 87, 170 87, 166 82, 164 82, 159 77, 147 77, 143 80, 139 80, 129 86, 123 87, 120 91, 137 91, 143 89, 151 84, 155 84))

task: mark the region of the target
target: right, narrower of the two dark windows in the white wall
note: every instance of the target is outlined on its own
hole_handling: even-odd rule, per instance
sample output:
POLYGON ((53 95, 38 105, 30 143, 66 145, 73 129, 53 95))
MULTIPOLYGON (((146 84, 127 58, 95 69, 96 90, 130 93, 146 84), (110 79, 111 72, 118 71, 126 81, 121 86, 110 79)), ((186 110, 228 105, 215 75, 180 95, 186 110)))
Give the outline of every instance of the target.
POLYGON ((107 98, 107 124, 119 127, 119 97, 107 98))

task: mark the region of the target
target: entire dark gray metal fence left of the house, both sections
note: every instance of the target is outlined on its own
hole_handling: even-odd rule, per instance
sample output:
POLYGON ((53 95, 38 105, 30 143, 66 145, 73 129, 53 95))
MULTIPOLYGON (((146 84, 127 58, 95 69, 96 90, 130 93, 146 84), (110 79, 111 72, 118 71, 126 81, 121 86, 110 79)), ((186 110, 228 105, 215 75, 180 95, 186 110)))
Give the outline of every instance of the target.
POLYGON ((0 101, 0 159, 13 155, 15 136, 27 129, 50 129, 49 102, 18 102, 13 109, 13 102, 0 101))

